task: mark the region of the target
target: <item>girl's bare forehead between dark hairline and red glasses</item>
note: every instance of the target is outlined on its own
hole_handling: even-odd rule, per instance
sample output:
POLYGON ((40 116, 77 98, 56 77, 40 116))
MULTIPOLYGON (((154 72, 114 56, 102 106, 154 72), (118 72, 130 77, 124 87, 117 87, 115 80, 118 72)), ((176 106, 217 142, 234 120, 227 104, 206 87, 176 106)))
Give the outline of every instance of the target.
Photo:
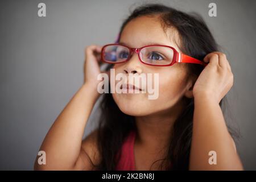
POLYGON ((180 52, 179 34, 175 28, 164 32, 158 16, 141 16, 126 24, 120 41, 129 47, 143 47, 150 44, 162 44, 174 47, 180 52))

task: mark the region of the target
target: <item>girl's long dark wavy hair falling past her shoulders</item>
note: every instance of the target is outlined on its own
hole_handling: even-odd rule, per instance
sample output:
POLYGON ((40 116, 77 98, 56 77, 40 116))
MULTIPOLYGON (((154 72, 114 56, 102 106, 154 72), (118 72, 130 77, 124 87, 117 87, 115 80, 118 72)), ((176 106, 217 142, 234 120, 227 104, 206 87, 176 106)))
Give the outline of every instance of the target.
MULTIPOLYGON (((208 53, 218 51, 218 45, 200 15, 196 13, 187 14, 158 3, 142 5, 133 10, 122 23, 119 35, 122 34, 123 28, 131 20, 139 16, 155 15, 158 15, 164 32, 168 27, 176 28, 181 40, 179 48, 183 53, 203 60, 208 53)), ((117 42, 119 42, 119 39, 117 42)), ((107 69, 112 66, 109 65, 107 69)), ((198 77, 203 71, 201 65, 187 64, 187 66, 189 76, 198 77)), ((186 99, 187 104, 172 127, 167 155, 164 159, 160 159, 162 160, 159 165, 160 169, 188 170, 189 168, 194 101, 193 98, 186 99)), ((226 96, 220 101, 222 111, 224 111, 225 100, 226 96)), ((110 92, 102 96, 100 108, 101 118, 97 129, 97 146, 101 160, 100 163, 93 165, 98 170, 115 170, 120 158, 118 151, 124 139, 131 130, 136 130, 135 117, 122 113, 110 92)), ((228 129, 232 136, 236 133, 229 126, 228 129)))

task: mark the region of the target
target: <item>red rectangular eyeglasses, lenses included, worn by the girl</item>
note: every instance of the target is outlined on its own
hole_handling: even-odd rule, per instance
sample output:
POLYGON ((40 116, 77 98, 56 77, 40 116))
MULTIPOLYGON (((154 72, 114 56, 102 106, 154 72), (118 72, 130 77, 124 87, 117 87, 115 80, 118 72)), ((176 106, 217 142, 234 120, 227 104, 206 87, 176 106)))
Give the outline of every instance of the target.
POLYGON ((101 49, 101 59, 110 64, 124 63, 131 58, 133 52, 138 54, 139 60, 143 64, 157 67, 167 67, 175 63, 201 64, 204 67, 207 65, 203 61, 177 52, 174 47, 158 44, 141 48, 130 48, 121 44, 107 44, 101 49))

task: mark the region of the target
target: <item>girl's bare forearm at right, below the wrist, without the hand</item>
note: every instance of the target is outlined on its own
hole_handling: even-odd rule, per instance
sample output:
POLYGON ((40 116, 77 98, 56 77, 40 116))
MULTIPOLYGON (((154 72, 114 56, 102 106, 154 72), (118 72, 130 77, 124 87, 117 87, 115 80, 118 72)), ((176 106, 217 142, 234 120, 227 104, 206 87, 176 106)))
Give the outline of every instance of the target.
POLYGON ((189 168, 192 170, 243 169, 220 105, 208 96, 195 98, 189 168), (216 151, 216 165, 209 164, 209 151, 216 151))

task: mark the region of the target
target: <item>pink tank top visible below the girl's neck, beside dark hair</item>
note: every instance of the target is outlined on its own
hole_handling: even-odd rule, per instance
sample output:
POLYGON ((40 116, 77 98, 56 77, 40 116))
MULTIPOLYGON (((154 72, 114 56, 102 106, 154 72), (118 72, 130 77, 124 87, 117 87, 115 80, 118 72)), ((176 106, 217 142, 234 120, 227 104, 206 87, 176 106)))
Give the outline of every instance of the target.
POLYGON ((117 171, 135 171, 134 159, 135 131, 130 131, 121 147, 121 157, 117 163, 117 171))

